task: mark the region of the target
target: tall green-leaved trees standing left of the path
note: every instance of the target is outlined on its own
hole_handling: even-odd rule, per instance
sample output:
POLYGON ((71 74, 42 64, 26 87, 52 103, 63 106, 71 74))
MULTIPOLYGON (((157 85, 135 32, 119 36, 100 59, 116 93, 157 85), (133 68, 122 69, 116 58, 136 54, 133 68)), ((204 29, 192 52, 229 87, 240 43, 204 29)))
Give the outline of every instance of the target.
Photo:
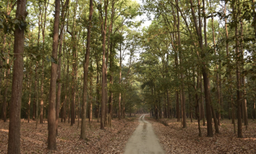
MULTIPOLYGON (((20 132, 18 131, 20 118, 27 118, 28 122, 31 122, 30 118, 33 118, 34 121, 40 119, 40 124, 43 124, 47 118, 48 149, 55 150, 57 149, 56 136, 58 136, 59 116, 61 116, 61 122, 66 122, 66 117, 68 117, 68 121, 71 118, 71 125, 74 125, 75 119, 82 116, 81 139, 85 140, 87 113, 90 113, 90 121, 92 121, 93 112, 95 112, 95 117, 101 117, 101 128, 104 129, 107 112, 110 113, 110 117, 114 117, 115 112, 115 117, 117 117, 116 111, 120 110, 122 118, 124 118, 125 113, 128 111, 130 114, 134 113, 140 106, 138 102, 141 98, 140 95, 136 95, 137 107, 132 105, 135 102, 126 101, 130 97, 129 94, 126 95, 126 92, 139 90, 139 83, 135 87, 133 86, 135 50, 128 49, 128 45, 123 49, 124 55, 131 53, 129 71, 126 70, 124 64, 118 66, 117 63, 120 61, 117 57, 117 51, 120 49, 119 38, 129 34, 127 40, 123 40, 122 44, 126 44, 125 41, 134 41, 131 29, 140 24, 140 22, 132 21, 139 14, 139 5, 136 2, 129 0, 67 0, 54 3, 50 1, 18 1, 17 3, 3 1, 1 4, 4 7, 0 8, 0 40, 4 42, 4 46, 1 45, 0 79, 4 86, 0 88, 3 98, 0 102, 2 119, 6 121, 10 118, 10 132, 13 131, 14 125, 15 133, 20 132), (29 3, 33 7, 28 7, 28 13, 24 15, 24 12, 19 12, 18 4, 21 6, 25 3, 29 3), (93 11, 93 5, 98 9, 93 11), (18 10, 18 15, 15 18, 11 13, 13 9, 18 10), (52 13, 54 18, 50 15, 52 13), (101 18, 95 14, 100 14, 101 18), (25 22, 25 16, 27 16, 27 22, 25 22), (28 26, 26 27, 26 25, 28 26), (16 44, 17 41, 12 43, 14 38, 12 31, 18 29, 21 32, 25 31, 23 38, 19 36, 21 41, 25 38, 24 43, 18 42, 19 46, 16 44), (14 46, 13 50, 11 46, 14 46), (23 57, 24 68, 23 64, 20 65, 23 57), (19 63, 19 67, 17 63, 19 63), (17 73, 15 71, 20 74, 15 74, 17 73), (24 72, 24 75, 21 72, 24 72), (120 85, 117 72, 124 72, 120 85), (90 78, 88 78, 88 73, 90 78), (25 76, 24 79, 23 76, 25 76), (12 94, 8 94, 8 91, 11 90, 9 84, 14 86, 14 82, 9 82, 10 77, 15 78, 15 82, 17 81, 20 86, 15 88, 12 94), (83 94, 80 90, 81 87, 84 87, 83 94), (126 89, 124 90, 124 88, 126 89), (19 92, 15 93, 15 91, 19 92), (123 96, 120 108, 116 102, 118 98, 116 94, 119 93, 123 96), (18 108, 13 107, 14 104, 11 103, 15 99, 13 94, 19 98, 15 105, 20 104, 20 108, 19 106, 18 108), (109 95, 111 97, 108 98, 109 95), (83 103, 81 104, 80 99, 82 100, 82 98, 83 103), (100 99, 102 99, 101 102, 100 99), (87 104, 90 106, 87 107, 87 104), (80 109, 81 106, 82 109, 80 109), (12 114, 13 109, 18 113, 15 114, 15 118, 11 117, 14 115, 12 114)), ((137 36, 136 38, 138 39, 137 36)), ((136 44, 132 46, 136 48, 136 44)), ((124 61, 124 55, 121 61, 124 61)), ((77 126, 79 127, 79 124, 77 126)), ((11 139, 11 134, 9 142, 14 142, 14 139, 11 139)), ((18 138, 15 137, 15 147, 17 148, 20 146, 18 138)), ((14 153, 19 152, 15 151, 14 153)))

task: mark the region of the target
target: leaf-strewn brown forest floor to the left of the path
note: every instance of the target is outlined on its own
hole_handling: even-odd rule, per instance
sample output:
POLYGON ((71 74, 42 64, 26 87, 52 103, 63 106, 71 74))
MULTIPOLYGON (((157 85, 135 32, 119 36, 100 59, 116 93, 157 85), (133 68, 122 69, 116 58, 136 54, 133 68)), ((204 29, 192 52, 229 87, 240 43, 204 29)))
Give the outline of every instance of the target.
MULTIPOLYGON (((137 115, 138 116, 138 115, 137 115)), ((74 126, 68 121, 61 123, 59 119, 56 151, 47 150, 47 122, 38 124, 36 121, 21 120, 21 153, 123 153, 124 147, 136 127, 138 117, 125 118, 117 121, 113 119, 113 128, 100 130, 100 123, 94 119, 89 128, 87 121, 87 140, 80 140, 81 127, 77 128, 77 120, 74 126)), ((81 119, 80 124, 81 126, 81 119)), ((7 153, 9 121, 0 121, 0 153, 7 153)))

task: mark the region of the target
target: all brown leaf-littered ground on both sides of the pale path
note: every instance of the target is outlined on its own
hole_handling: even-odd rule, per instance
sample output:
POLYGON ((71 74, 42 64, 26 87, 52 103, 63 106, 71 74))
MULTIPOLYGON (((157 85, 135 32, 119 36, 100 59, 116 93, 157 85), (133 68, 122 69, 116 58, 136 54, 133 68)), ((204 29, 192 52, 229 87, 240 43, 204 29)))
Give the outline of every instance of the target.
MULTIPOLYGON (((100 130, 100 123, 93 120, 90 128, 87 123, 87 141, 79 139, 77 120, 74 126, 70 126, 68 122, 59 122, 57 151, 49 151, 46 148, 47 123, 39 124, 35 129, 35 121, 27 123, 27 120, 21 120, 21 153, 124 153, 129 138, 136 132, 135 129, 140 127, 139 116, 121 121, 114 119, 113 129, 106 130, 100 130)), ((214 134, 213 138, 206 137, 206 126, 202 126, 202 123, 202 137, 198 137, 196 120, 191 123, 190 119, 187 119, 187 128, 182 128, 177 119, 155 120, 148 114, 145 120, 142 119, 142 133, 146 133, 149 125, 152 125, 160 146, 166 153, 256 153, 256 120, 249 120, 248 130, 243 126, 242 139, 237 138, 231 120, 227 119, 221 121, 220 134, 214 134)), ((0 153, 7 153, 8 125, 9 122, 0 121, 0 153)))

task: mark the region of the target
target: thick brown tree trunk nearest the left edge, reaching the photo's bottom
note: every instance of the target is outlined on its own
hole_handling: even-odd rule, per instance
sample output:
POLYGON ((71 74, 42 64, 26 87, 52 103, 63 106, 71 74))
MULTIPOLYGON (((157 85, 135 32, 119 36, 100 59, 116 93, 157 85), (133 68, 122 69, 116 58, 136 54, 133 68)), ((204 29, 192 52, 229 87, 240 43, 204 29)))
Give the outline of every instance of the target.
MULTIPOLYGON (((21 19, 22 17, 22 20, 25 21, 26 15, 26 1, 17 1, 16 18, 21 19)), ((20 153, 20 115, 23 82, 24 27, 15 29, 13 52, 15 61, 13 63, 12 72, 8 154, 20 153)))

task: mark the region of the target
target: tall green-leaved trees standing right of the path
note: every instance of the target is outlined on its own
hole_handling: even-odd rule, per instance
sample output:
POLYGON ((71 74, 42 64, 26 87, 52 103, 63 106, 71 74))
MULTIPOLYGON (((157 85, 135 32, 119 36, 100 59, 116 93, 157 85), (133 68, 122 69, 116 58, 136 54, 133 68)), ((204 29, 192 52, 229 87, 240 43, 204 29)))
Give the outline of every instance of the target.
MULTIPOLYGON (((174 97, 177 100, 176 114, 172 114, 179 121, 181 111, 183 127, 186 127, 186 123, 184 123, 186 117, 193 118, 191 108, 185 107, 188 103, 184 103, 184 101, 188 100, 189 106, 195 106, 193 112, 198 119, 199 136, 201 136, 200 120, 204 119, 204 102, 207 136, 209 137, 213 137, 212 118, 215 132, 219 133, 218 125, 220 125, 221 119, 226 115, 229 115, 230 118, 232 111, 232 123, 235 125, 235 119, 238 119, 238 138, 242 138, 242 123, 248 125, 248 102, 246 100, 253 98, 255 92, 251 91, 251 94, 248 95, 246 90, 249 88, 245 86, 254 81, 250 75, 255 73, 251 61, 254 59, 254 50, 251 50, 251 47, 254 47, 253 42, 255 41, 251 34, 254 34, 255 28, 250 26, 254 25, 255 21, 255 4, 236 0, 232 2, 190 0, 188 4, 185 4, 178 0, 174 2, 167 0, 152 3, 143 1, 143 5, 148 13, 155 16, 153 23, 143 33, 145 44, 142 47, 146 47, 143 55, 150 58, 150 61, 153 61, 152 57, 154 57, 153 66, 156 68, 160 68, 159 66, 163 63, 161 60, 163 55, 158 52, 169 55, 170 62, 167 68, 170 72, 169 75, 161 74, 164 68, 155 69, 154 71, 158 73, 154 73, 157 75, 154 75, 153 78, 151 75, 153 79, 151 84, 148 81, 149 77, 139 72, 143 76, 143 85, 147 85, 149 88, 154 87, 153 90, 156 92, 150 92, 152 95, 156 94, 154 98, 161 97, 162 104, 166 108, 164 91, 160 88, 157 90, 156 87, 163 87, 161 85, 168 80, 167 83, 170 84, 166 84, 166 88, 173 90, 169 91, 167 98, 174 97), (210 7, 206 8, 207 4, 210 7), (217 11, 218 7, 222 9, 217 11), (227 13, 227 10, 231 13, 227 13), (218 17, 218 22, 214 20, 214 17, 218 17), (207 18, 210 18, 208 23, 207 18), (244 24, 244 21, 247 24, 244 24), (221 22, 225 25, 221 25, 221 22), (245 34, 245 29, 250 32, 245 34), (162 45, 162 42, 165 41, 169 41, 171 44, 167 50, 167 46, 162 45), (236 83, 232 80, 235 77, 236 83), (247 82, 244 78, 247 79, 247 82), (202 87, 204 93, 202 93, 202 87), (236 94, 234 91, 237 91, 236 94), (191 93, 193 94, 191 95, 191 93), (191 103, 193 100, 195 103, 191 103), (231 107, 232 110, 230 110, 231 107)), ((140 68, 144 67, 142 64, 146 62, 145 56, 140 58, 140 68)), ((152 74, 152 71, 148 71, 147 74, 152 74)), ((145 92, 149 93, 147 90, 145 92)), ((253 101, 251 101, 251 105, 254 105, 253 101)), ((154 103, 151 103, 151 106, 157 108, 156 112, 162 109, 155 106, 154 103)))

